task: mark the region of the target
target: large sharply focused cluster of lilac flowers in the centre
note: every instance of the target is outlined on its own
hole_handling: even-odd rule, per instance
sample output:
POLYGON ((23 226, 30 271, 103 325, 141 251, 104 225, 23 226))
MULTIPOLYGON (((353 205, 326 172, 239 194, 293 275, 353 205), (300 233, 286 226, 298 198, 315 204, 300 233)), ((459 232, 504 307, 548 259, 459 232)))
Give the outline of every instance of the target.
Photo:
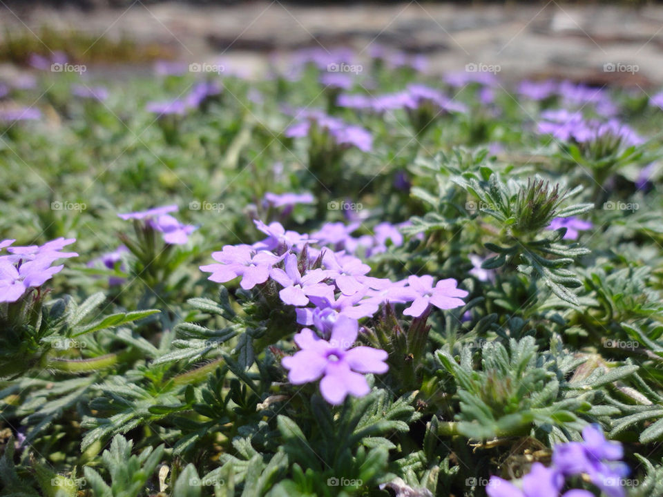
MULTIPOLYGON (((289 380, 303 384, 322 378, 320 392, 334 405, 343 402, 347 394, 368 393, 363 374, 387 371, 385 351, 354 347, 358 320, 371 318, 381 305, 390 303, 410 304, 403 314, 419 317, 432 306, 459 307, 468 295, 452 279, 435 282, 430 275, 411 275, 392 282, 369 276, 370 266, 338 249, 356 240, 350 235, 356 226, 327 224, 311 236, 287 231, 278 222, 267 225, 256 221, 256 226, 267 235, 265 240, 224 246, 212 254, 217 264, 200 269, 211 273, 209 280, 214 282, 241 277, 240 286, 247 290, 268 280, 278 284, 280 300, 296 307, 297 323, 304 327, 294 337, 300 351, 282 361, 289 370, 289 380)), ((379 250, 386 250, 387 238, 398 238, 387 226, 379 232, 379 250)), ((402 242, 402 235, 398 236, 402 242)))

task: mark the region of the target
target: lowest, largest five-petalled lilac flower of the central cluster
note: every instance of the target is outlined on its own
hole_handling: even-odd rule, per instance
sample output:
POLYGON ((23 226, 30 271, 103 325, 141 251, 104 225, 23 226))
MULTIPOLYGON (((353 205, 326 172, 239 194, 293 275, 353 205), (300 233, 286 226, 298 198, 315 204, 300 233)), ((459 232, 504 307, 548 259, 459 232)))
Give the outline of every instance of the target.
POLYGON ((320 380, 320 393, 332 405, 340 405, 349 394, 362 397, 370 391, 365 373, 381 374, 389 367, 387 353, 372 347, 354 347, 358 324, 356 320, 339 316, 332 327, 329 341, 322 340, 308 328, 295 335, 300 351, 283 358, 292 384, 320 380))

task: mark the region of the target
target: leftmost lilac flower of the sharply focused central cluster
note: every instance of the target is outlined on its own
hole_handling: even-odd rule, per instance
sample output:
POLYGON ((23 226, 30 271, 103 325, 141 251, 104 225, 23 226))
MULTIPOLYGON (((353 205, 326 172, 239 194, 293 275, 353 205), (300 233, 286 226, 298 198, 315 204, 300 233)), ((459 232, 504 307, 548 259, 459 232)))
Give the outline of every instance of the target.
POLYGON ((265 283, 269 279, 269 271, 279 257, 267 251, 256 251, 249 245, 226 245, 220 252, 213 252, 212 258, 220 264, 200 266, 201 271, 212 273, 207 279, 217 283, 225 283, 241 276, 240 286, 250 290, 256 284, 265 283))

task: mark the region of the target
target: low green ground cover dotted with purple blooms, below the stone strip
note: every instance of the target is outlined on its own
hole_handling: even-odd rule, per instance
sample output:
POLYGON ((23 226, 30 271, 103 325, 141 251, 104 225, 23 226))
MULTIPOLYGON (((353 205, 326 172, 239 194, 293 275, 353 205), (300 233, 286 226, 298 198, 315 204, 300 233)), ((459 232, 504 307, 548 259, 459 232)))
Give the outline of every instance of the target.
POLYGON ((661 95, 386 49, 30 63, 2 495, 663 495, 661 95))

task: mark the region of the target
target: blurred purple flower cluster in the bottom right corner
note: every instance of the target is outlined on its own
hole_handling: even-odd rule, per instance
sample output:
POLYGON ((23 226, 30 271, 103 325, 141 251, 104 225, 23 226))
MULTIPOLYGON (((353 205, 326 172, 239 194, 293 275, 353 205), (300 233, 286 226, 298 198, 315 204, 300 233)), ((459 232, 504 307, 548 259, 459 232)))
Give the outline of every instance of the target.
MULTIPOLYGON (((622 459, 624 451, 617 442, 608 442, 601 429, 594 425, 582 431, 582 442, 568 442, 553 449, 553 466, 540 462, 532 465, 530 473, 521 480, 521 487, 497 476, 490 478, 489 497, 559 497, 566 478, 584 476, 608 497, 624 497, 620 482, 628 476, 622 459)), ((587 490, 566 491, 563 497, 593 497, 587 490)))

